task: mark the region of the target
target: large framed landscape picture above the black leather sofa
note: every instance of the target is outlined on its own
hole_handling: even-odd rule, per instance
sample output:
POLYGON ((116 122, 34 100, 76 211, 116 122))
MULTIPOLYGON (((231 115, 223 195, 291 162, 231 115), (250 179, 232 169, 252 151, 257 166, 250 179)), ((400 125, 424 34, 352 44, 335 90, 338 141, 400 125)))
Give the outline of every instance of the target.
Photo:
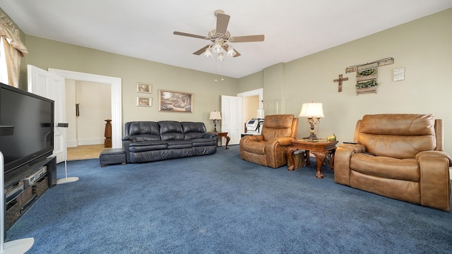
POLYGON ((193 94, 158 90, 158 111, 193 113, 193 94))

